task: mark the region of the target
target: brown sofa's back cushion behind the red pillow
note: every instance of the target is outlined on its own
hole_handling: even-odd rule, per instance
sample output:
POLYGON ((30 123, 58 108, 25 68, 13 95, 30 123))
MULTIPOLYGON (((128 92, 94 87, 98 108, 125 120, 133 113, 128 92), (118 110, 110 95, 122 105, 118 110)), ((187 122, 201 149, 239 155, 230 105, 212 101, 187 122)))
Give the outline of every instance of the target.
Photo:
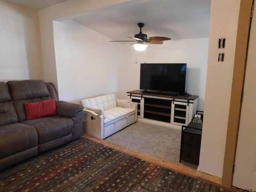
POLYGON ((47 85, 43 80, 8 81, 7 85, 19 121, 26 120, 24 103, 51 99, 47 85))

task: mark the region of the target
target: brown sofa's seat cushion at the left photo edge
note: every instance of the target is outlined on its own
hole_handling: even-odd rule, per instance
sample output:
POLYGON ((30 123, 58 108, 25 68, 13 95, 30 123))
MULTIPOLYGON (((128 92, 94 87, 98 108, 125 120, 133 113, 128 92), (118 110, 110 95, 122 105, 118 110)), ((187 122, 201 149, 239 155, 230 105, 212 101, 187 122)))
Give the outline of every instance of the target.
POLYGON ((38 135, 33 126, 22 123, 0 126, 0 159, 37 146, 38 135))

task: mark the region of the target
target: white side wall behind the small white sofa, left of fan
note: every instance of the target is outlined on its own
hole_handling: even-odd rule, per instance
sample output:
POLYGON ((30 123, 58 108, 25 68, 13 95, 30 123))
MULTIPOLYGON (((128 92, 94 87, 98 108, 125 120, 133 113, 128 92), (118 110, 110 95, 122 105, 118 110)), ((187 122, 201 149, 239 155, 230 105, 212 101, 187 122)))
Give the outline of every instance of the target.
POLYGON ((74 20, 53 24, 60 100, 118 92, 120 45, 74 20))

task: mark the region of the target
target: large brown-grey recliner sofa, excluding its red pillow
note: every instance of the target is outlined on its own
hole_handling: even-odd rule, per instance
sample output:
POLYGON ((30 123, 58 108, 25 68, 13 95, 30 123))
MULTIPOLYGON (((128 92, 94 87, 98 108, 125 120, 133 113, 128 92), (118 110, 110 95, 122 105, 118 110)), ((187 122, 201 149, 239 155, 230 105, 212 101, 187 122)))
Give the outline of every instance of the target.
POLYGON ((59 101, 43 80, 0 82, 0 170, 82 136, 79 104, 59 101), (56 115, 27 120, 25 103, 55 99, 56 115))

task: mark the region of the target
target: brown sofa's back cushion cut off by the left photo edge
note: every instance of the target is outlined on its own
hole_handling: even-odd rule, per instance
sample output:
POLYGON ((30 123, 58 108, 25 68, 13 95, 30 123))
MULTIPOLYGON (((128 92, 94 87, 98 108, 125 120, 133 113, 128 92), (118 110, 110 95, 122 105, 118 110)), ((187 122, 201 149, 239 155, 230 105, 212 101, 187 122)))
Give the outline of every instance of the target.
POLYGON ((0 82, 0 126, 18 122, 12 97, 5 82, 0 82))

